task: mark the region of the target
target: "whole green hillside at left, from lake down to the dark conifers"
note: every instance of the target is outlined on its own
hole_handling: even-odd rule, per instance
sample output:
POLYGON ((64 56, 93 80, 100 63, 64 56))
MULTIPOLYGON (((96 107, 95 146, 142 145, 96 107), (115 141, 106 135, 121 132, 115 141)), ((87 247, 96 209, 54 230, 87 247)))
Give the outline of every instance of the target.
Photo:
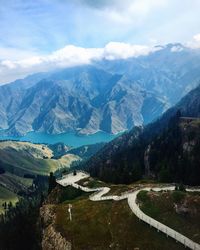
POLYGON ((0 213, 2 203, 15 202, 26 195, 37 176, 47 176, 59 168, 69 167, 80 158, 68 154, 52 159, 53 151, 46 145, 29 142, 0 142, 0 213))

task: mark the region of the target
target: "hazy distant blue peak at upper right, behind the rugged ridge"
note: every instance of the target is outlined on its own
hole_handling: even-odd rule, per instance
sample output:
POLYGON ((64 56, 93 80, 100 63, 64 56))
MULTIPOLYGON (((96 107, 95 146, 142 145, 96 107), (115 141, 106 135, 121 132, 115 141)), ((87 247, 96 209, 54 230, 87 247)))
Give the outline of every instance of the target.
POLYGON ((200 50, 181 44, 157 46, 148 56, 106 61, 102 67, 112 73, 126 75, 145 90, 165 96, 171 105, 197 86, 200 50))

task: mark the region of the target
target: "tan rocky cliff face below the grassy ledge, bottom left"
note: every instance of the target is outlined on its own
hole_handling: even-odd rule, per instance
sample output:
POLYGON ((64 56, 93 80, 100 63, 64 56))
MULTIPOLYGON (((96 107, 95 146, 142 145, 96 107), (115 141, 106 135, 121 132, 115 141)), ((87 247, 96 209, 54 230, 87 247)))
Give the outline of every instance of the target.
POLYGON ((42 249, 43 250, 71 250, 71 243, 66 241, 59 232, 54 228, 55 211, 54 205, 43 205, 40 209, 40 217, 42 220, 43 235, 42 249))

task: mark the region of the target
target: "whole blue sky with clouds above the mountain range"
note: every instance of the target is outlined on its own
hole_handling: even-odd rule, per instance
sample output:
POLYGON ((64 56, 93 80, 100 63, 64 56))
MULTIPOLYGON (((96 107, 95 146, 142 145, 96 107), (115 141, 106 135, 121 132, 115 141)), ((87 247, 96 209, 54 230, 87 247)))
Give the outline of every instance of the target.
POLYGON ((0 0, 0 84, 54 67, 200 47, 200 0, 0 0))

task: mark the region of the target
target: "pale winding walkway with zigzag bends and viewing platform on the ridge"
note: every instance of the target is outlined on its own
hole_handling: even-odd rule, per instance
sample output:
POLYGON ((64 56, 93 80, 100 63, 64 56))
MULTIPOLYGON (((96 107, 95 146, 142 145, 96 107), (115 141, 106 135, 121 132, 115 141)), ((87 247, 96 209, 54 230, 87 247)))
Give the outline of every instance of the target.
MULTIPOLYGON (((120 196, 118 195, 108 195, 104 196, 110 191, 109 187, 99 187, 99 188, 88 188, 88 187, 83 187, 76 182, 78 182, 81 179, 85 179, 90 177, 90 175, 86 172, 79 171, 77 172, 76 175, 73 175, 73 173, 70 173, 66 176, 63 176, 60 179, 57 179, 57 183, 66 187, 66 186, 73 186, 74 188, 81 189, 84 192, 93 192, 89 196, 89 199, 91 201, 102 201, 102 200, 123 200, 123 199, 128 199, 128 204, 132 212, 142 221, 146 222, 150 226, 154 227, 157 229, 157 231, 161 231, 164 234, 170 236, 171 238, 174 238, 177 242, 182 243, 185 247, 188 247, 193 250, 200 250, 200 245, 192 240, 190 240, 188 237, 180 234, 179 232, 175 231, 174 229, 156 221, 155 219, 151 218, 150 216, 146 215, 145 213, 142 212, 138 204, 136 203, 137 201, 137 194, 142 191, 142 190, 153 190, 153 191, 169 191, 169 190, 174 190, 174 186, 166 186, 166 187, 155 187, 155 188, 139 188, 138 190, 130 191, 130 192, 125 192, 122 193, 120 196)), ((194 191, 200 191, 200 189, 187 189, 188 192, 194 192, 194 191)))

